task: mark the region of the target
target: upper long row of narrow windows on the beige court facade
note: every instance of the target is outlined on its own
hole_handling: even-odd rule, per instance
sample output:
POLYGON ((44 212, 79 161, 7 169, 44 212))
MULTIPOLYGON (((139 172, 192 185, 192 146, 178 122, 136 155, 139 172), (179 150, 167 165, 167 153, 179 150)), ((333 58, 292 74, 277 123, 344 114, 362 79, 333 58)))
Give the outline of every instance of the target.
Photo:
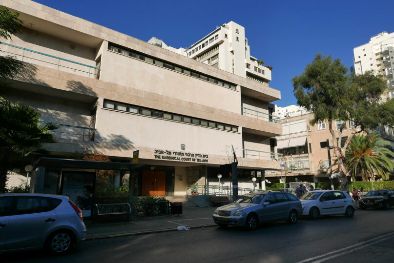
POLYGON ((164 61, 160 61, 160 60, 156 60, 156 59, 153 59, 153 58, 149 58, 149 57, 146 57, 145 55, 140 55, 140 54, 137 54, 135 52, 132 52, 132 51, 129 51, 129 50, 125 50, 125 49, 120 48, 120 47, 116 47, 114 45, 108 45, 108 49, 111 50, 111 51, 115 51, 117 53, 121 53, 123 55, 129 56, 129 57, 135 58, 135 59, 146 61, 146 62, 155 64, 155 65, 158 65, 158 66, 161 66, 161 67, 165 67, 165 68, 174 70, 176 72, 184 73, 184 74, 192 76, 192 77, 200 78, 202 80, 210 81, 212 83, 224 86, 226 88, 230 88, 230 89, 236 90, 236 86, 233 85, 233 84, 230 84, 230 83, 225 82, 225 81, 220 81, 218 79, 215 79, 215 78, 212 78, 212 77, 208 77, 206 75, 202 75, 202 74, 199 74, 199 73, 194 72, 194 71, 190 71, 190 70, 188 70, 186 68, 178 67, 178 66, 172 65, 170 63, 164 62, 164 61))

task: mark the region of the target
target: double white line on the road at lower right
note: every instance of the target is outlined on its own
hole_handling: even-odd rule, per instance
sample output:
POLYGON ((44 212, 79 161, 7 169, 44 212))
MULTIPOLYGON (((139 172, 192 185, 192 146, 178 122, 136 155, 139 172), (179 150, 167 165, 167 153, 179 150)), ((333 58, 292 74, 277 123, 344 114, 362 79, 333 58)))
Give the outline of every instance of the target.
POLYGON ((341 249, 337 249, 337 250, 334 250, 334 251, 331 251, 331 252, 327 252, 325 254, 322 254, 322 255, 319 255, 319 256, 316 256, 316 257, 313 257, 313 258, 305 259, 305 260, 299 261, 297 263, 310 262, 310 261, 317 260, 317 259, 322 258, 322 257, 330 256, 330 255, 332 255, 334 253, 338 253, 338 252, 341 252, 341 251, 344 251, 344 250, 348 250, 348 251, 345 251, 345 252, 342 252, 342 253, 339 253, 339 254, 332 255, 332 256, 327 257, 327 258, 323 258, 323 259, 319 259, 317 261, 313 261, 313 263, 323 262, 323 261, 326 261, 326 260, 329 260, 329 259, 332 259, 332 258, 336 258, 336 257, 342 256, 344 254, 348 254, 348 253, 357 251, 357 250, 359 250, 361 248, 367 247, 367 246, 372 245, 374 243, 379 243, 379 242, 384 241, 386 239, 390 239, 390 238, 392 238, 393 235, 394 235, 394 233, 389 233, 389 234, 386 234, 386 235, 382 235, 382 236, 370 239, 369 241, 360 242, 360 243, 357 243, 357 244, 354 244, 354 245, 350 245, 350 246, 347 246, 347 247, 344 247, 344 248, 341 248, 341 249), (353 248, 355 246, 358 246, 358 247, 353 248))

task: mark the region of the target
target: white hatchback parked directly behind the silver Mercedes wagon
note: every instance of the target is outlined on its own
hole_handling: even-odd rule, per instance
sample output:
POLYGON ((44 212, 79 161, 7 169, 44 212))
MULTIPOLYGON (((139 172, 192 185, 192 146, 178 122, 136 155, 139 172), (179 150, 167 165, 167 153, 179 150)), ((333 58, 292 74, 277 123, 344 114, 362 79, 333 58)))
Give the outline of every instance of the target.
POLYGON ((345 215, 353 217, 354 204, 345 191, 310 191, 300 197, 302 215, 316 219, 319 215, 345 215))

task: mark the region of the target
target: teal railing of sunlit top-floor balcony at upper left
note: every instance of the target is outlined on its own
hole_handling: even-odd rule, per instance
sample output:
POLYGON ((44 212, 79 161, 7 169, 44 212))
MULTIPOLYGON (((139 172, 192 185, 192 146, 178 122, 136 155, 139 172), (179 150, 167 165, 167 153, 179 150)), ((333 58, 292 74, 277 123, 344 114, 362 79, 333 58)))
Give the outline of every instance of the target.
POLYGON ((74 73, 88 78, 99 79, 100 68, 86 65, 80 62, 63 59, 52 56, 28 48, 0 42, 3 45, 9 46, 8 49, 1 48, 1 51, 8 53, 23 62, 28 62, 37 65, 43 65, 57 70, 62 70, 69 73, 74 73))

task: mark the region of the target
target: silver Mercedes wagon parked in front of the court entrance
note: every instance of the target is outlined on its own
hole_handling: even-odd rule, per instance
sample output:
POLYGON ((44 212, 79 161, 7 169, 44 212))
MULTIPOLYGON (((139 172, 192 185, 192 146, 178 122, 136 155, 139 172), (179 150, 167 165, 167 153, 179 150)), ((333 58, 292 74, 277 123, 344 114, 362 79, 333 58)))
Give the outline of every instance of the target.
POLYGON ((301 202, 290 193, 255 191, 231 204, 218 207, 212 217, 221 226, 246 226, 253 230, 263 222, 285 220, 291 224, 297 223, 301 213, 301 202))

